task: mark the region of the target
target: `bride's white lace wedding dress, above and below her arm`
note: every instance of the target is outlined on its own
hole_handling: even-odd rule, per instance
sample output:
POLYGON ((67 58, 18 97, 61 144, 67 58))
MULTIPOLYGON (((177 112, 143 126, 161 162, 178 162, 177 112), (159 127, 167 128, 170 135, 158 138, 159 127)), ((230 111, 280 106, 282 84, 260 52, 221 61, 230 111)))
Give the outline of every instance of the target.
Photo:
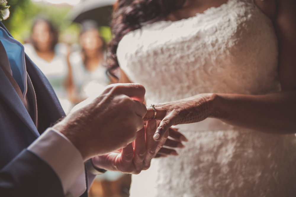
MULTIPOLYGON (((129 32, 117 57, 153 104, 198 93, 280 91, 274 28, 253 0, 229 0, 188 19, 129 32)), ((266 134, 217 119, 177 127, 189 139, 186 147, 133 175, 131 196, 296 196, 295 135, 266 134)))

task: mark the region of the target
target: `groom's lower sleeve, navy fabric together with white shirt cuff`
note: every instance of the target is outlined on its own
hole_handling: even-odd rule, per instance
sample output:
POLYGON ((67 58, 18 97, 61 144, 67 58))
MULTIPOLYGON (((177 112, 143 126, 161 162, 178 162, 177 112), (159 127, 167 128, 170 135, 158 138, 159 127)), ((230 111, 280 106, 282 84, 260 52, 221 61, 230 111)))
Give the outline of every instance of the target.
POLYGON ((0 171, 0 196, 87 196, 80 152, 52 128, 0 171))

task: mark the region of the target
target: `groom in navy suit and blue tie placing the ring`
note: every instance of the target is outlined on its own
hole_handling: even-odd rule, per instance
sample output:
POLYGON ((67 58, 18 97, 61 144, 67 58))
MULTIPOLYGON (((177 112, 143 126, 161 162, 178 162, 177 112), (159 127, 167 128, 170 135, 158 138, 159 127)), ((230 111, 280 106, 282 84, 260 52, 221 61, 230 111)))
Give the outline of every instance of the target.
POLYGON ((106 171, 91 158, 120 148, 114 159, 101 159, 101 166, 132 173, 144 168, 145 139, 136 133, 147 112, 143 86, 109 86, 62 119, 46 77, 1 22, 0 67, 0 196, 87 196, 95 174, 106 171))

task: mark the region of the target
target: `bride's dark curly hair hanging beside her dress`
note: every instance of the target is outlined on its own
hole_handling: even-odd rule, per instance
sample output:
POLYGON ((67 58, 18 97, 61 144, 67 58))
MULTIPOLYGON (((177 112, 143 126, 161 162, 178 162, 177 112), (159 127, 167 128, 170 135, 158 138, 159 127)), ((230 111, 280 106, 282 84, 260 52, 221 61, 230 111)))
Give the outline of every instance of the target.
POLYGON ((119 78, 116 50, 124 35, 143 25, 163 20, 186 0, 118 0, 113 12, 112 40, 107 49, 107 74, 119 78))

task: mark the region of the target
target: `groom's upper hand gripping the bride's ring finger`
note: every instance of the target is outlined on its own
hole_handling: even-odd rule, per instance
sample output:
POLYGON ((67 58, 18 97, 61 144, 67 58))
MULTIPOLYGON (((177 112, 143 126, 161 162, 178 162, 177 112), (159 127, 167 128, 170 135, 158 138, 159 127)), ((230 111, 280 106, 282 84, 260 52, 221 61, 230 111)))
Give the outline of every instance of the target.
POLYGON ((112 84, 54 128, 75 145, 84 160, 126 147, 144 126, 144 95, 139 84, 112 84))

